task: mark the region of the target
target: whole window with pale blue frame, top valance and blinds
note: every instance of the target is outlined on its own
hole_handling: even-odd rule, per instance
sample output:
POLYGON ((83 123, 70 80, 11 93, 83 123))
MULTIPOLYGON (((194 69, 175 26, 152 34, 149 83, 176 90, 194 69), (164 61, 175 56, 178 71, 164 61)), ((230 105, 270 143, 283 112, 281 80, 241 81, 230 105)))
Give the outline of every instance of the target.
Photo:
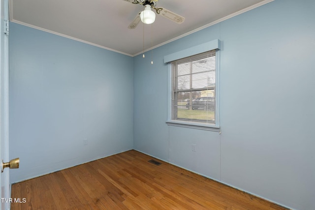
POLYGON ((164 56, 169 69, 168 125, 220 132, 220 40, 164 56))

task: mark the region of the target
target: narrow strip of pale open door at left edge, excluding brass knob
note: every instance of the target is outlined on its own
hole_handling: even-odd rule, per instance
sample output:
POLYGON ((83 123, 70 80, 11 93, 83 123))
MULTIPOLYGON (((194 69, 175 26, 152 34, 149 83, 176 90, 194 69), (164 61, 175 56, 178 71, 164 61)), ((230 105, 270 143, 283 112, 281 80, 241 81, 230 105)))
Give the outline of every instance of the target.
MULTIPOLYGON (((8 65, 8 0, 1 0, 0 4, 0 161, 9 159, 9 125, 8 125, 8 100, 9 100, 9 65, 8 65)), ((1 164, 1 163, 0 163, 1 164)), ((10 183, 9 170, 0 173, 1 200, 0 210, 9 210, 10 183), (5 199, 6 198, 6 199, 5 199)))

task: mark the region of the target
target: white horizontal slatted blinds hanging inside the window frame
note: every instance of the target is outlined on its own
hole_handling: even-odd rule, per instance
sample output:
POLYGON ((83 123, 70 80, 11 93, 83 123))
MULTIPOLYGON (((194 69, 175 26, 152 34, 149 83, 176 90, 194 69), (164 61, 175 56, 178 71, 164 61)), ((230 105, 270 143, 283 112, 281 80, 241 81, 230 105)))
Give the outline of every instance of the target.
POLYGON ((171 120, 216 124, 216 50, 171 64, 171 120))

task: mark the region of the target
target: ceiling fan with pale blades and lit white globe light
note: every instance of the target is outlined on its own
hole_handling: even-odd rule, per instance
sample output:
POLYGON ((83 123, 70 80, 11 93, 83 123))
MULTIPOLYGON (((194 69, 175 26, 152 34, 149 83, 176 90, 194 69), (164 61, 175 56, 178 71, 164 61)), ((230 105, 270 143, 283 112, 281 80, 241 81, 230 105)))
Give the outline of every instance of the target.
POLYGON ((185 18, 172 11, 157 7, 158 0, 125 0, 134 4, 141 4, 144 6, 144 10, 139 12, 132 23, 128 26, 128 29, 135 29, 139 22, 142 21, 145 24, 152 24, 155 21, 156 14, 152 11, 154 9, 158 15, 162 15, 177 24, 184 22, 185 18))

